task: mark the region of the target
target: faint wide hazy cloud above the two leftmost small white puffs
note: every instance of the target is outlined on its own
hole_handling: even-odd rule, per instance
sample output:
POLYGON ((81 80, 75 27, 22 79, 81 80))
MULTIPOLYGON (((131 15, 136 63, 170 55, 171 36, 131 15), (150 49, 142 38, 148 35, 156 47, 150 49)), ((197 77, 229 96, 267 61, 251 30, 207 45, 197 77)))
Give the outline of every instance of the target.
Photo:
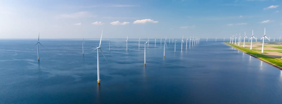
POLYGON ((96 17, 95 15, 92 15, 89 12, 75 12, 71 14, 60 14, 58 15, 58 18, 85 18, 85 17, 96 17))

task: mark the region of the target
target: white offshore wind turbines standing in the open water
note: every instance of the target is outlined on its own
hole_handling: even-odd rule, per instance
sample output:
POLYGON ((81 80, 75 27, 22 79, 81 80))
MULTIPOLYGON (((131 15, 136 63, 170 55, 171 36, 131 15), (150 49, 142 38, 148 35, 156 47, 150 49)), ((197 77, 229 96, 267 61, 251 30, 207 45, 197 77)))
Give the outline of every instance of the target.
MULTIPOLYGON (((100 67, 99 67, 99 50, 101 51, 101 53, 102 53, 102 55, 103 55, 103 57, 106 59, 106 57, 105 57, 105 55, 104 55, 104 53, 103 53, 103 51, 102 51, 102 49, 101 49, 101 41, 102 41, 102 36, 103 36, 103 30, 102 30, 102 34, 101 34, 101 38, 100 38, 100 43, 99 43, 99 46, 96 46, 96 48, 93 50, 93 51, 95 51, 95 50, 97 50, 97 82, 98 83, 100 83, 100 67)), ((183 41, 183 39, 184 39, 184 37, 182 36, 182 40, 181 40, 181 51, 183 50, 183 44, 185 44, 185 42, 183 41)), ((140 48, 140 40, 141 39, 139 39, 139 43, 138 43, 138 48, 140 48)), ((189 47, 191 46, 191 41, 192 41, 192 46, 194 46, 194 45, 197 45, 197 44, 199 44, 199 42, 200 42, 200 38, 191 38, 190 37, 190 39, 186 39, 186 48, 187 48, 187 46, 188 46, 188 40, 189 40, 189 47)), ((164 57, 165 57, 165 47, 167 47, 167 43, 166 43, 166 41, 167 41, 167 38, 165 38, 165 40, 164 41, 162 41, 162 39, 161 39, 161 43, 163 42, 164 43, 164 57)), ((109 51, 110 51, 110 42, 111 42, 111 39, 109 39, 109 51)), ((129 42, 128 41, 128 37, 126 38, 126 51, 128 51, 128 48, 127 48, 127 43, 129 42)), ((174 42, 174 52, 176 52, 176 42, 177 42, 177 40, 174 40, 173 38, 172 38, 172 43, 174 42)), ((170 43, 170 38, 169 38, 169 43, 170 43)), ((84 42, 84 38, 83 38, 83 40, 82 40, 82 54, 84 55, 84 44, 85 44, 85 42, 84 42)), ((40 42, 39 42, 39 34, 38 34, 38 41, 37 41, 37 43, 36 43, 36 45, 37 45, 37 59, 39 60, 39 45, 41 45, 41 46, 43 46, 40 42)), ((146 47, 148 47, 149 46, 149 39, 144 43, 144 65, 146 65, 146 47)), ((156 39, 155 39, 155 46, 156 46, 156 39)), ((92 51, 92 52, 93 52, 92 51)), ((106 59, 106 62, 108 62, 107 61, 107 59, 106 59)))

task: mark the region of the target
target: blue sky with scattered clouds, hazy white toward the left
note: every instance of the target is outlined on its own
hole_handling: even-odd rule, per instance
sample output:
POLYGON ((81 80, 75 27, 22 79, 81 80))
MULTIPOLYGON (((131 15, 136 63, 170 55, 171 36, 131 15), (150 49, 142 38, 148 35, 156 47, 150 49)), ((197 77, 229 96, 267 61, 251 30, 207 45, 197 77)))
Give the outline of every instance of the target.
POLYGON ((2 38, 280 37, 282 0, 0 0, 2 38))

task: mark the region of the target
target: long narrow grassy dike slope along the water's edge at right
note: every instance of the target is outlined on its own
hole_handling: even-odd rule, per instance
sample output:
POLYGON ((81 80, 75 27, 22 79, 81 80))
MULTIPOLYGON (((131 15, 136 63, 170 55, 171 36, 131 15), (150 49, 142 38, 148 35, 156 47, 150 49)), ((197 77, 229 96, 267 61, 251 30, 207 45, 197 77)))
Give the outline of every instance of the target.
POLYGON ((262 60, 262 61, 264 61, 264 62, 266 62, 266 63, 268 63, 268 64, 270 64, 270 65, 272 65, 274 67, 277 67, 280 70, 282 70, 282 60, 281 59, 265 56, 265 55, 263 55, 261 53, 254 52, 254 51, 252 51, 252 50, 250 50, 248 48, 239 47, 237 45, 230 44, 228 42, 225 42, 225 44, 230 45, 230 46, 232 46, 234 48, 237 48, 240 51, 243 51, 243 52, 245 52, 245 53, 247 53, 247 54, 249 54, 251 56, 254 56, 254 57, 256 57, 256 58, 258 58, 258 59, 260 59, 260 60, 262 60))

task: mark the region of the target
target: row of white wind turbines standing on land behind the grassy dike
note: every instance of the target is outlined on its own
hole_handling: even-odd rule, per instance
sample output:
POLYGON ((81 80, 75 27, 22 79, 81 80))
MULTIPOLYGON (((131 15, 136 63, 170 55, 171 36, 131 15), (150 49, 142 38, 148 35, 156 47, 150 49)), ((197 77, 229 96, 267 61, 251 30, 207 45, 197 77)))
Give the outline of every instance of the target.
MULTIPOLYGON (((237 35, 236 35, 236 36, 235 36, 235 35, 233 35, 233 36, 230 35, 230 42, 229 42, 229 43, 233 44, 234 37, 235 37, 234 45, 236 45, 237 35), (232 42, 231 42, 231 40, 232 40, 232 42)), ((238 42, 237 42, 238 46, 240 46, 241 38, 242 38, 242 37, 240 36, 240 33, 239 33, 238 42)), ((245 38, 248 39, 248 37, 246 36, 246 32, 245 32, 245 36, 244 36, 243 47, 245 47, 245 38)), ((249 41, 251 40, 250 50, 252 49, 253 38, 257 41, 257 38, 254 37, 254 30, 252 30, 252 35, 249 37, 249 41)), ((263 34, 263 36, 260 38, 260 40, 263 41, 263 42, 262 42, 261 53, 263 53, 264 40, 266 40, 266 39, 270 42, 270 39, 267 38, 266 35, 265 35, 265 28, 264 28, 264 34, 263 34)), ((273 41, 275 41, 275 38, 274 38, 273 41)), ((280 37, 279 37, 279 41, 280 41, 280 37)))

